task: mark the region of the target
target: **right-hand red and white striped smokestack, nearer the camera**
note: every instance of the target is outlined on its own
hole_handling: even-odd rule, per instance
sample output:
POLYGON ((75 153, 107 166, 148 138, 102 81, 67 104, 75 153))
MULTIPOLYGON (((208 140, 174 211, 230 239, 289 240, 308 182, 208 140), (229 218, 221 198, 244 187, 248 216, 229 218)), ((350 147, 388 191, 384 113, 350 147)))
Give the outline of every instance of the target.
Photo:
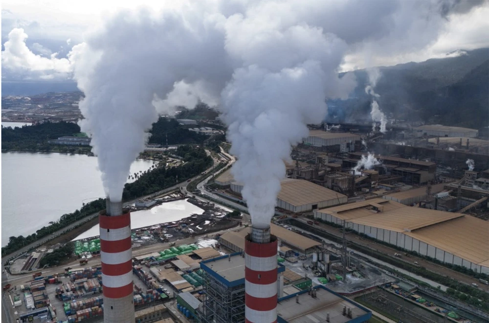
POLYGON ((277 322, 277 238, 270 227, 251 228, 244 243, 246 323, 277 322))

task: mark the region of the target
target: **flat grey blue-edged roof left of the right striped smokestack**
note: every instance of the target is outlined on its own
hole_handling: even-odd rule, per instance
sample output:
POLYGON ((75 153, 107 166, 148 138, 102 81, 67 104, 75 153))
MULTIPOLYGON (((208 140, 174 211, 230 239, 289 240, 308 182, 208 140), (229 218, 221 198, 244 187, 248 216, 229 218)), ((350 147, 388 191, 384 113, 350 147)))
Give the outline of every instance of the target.
MULTIPOLYGON (((241 253, 204 260, 200 267, 229 287, 244 284, 244 256, 241 253)), ((285 267, 278 265, 277 271, 283 273, 285 267)))

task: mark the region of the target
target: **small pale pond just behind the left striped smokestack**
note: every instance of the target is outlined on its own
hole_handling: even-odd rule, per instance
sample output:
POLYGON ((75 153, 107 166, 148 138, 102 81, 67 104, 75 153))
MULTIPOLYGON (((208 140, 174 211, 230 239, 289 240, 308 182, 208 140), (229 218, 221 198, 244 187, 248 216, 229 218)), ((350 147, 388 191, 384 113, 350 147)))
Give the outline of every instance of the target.
MULTIPOLYGON (((203 209, 179 200, 160 204, 149 210, 140 210, 131 213, 131 229, 153 226, 158 223, 178 221, 190 216, 190 214, 202 214, 203 209)), ((90 238, 99 235, 100 227, 96 226, 77 236, 74 240, 90 238)))

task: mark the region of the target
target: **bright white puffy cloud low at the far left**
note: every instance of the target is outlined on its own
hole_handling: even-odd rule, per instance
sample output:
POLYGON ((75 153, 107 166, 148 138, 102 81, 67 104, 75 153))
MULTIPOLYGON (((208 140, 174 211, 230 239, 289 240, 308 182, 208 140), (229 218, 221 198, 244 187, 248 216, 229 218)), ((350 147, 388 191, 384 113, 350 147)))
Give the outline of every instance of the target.
MULTIPOLYGON (((49 58, 34 54, 25 44, 26 39, 27 34, 22 28, 12 29, 8 34, 8 41, 4 44, 5 50, 2 51, 2 69, 21 74, 30 72, 30 79, 37 77, 66 79, 69 77, 72 67, 66 58, 56 58, 56 54, 51 54, 49 58)), ((39 46, 36 48, 45 50, 43 46, 39 46)))

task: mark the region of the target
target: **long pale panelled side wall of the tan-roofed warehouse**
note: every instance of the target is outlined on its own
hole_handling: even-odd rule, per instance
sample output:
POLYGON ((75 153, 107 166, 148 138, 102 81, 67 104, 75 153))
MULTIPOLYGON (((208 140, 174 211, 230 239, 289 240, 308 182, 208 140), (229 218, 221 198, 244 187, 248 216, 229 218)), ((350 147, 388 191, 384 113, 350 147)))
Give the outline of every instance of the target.
MULTIPOLYGON (((342 220, 336 218, 331 214, 322 213, 319 211, 314 211, 314 218, 321 219, 326 222, 331 222, 334 224, 341 225, 342 220)), ((442 262, 452 265, 464 266, 468 269, 472 269, 477 273, 489 274, 489 267, 484 267, 475 263, 472 263, 466 259, 460 258, 456 255, 450 254, 442 249, 436 248, 430 244, 424 243, 408 236, 402 232, 385 230, 381 228, 375 228, 370 226, 359 225, 353 222, 347 222, 347 228, 351 228, 356 232, 366 234, 374 239, 384 241, 386 243, 392 244, 394 246, 400 247, 407 251, 415 251, 418 254, 428 256, 431 258, 436 258, 442 262)))

